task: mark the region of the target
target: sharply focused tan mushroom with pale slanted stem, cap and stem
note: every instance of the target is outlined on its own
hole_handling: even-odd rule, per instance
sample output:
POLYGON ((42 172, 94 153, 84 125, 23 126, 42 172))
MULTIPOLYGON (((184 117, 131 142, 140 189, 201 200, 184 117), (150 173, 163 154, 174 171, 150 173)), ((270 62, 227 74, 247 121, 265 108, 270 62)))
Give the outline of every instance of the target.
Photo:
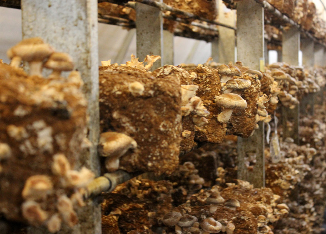
POLYGON ((238 94, 225 93, 215 98, 215 103, 225 109, 218 114, 217 120, 221 123, 227 123, 232 115, 233 109, 244 110, 247 102, 238 94))

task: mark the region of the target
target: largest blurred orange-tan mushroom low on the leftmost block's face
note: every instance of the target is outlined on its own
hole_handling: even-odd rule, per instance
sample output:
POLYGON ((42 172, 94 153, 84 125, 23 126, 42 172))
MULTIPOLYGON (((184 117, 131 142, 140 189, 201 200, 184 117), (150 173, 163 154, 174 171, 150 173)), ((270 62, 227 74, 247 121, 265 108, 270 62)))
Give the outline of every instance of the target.
POLYGON ((32 175, 25 182, 22 197, 28 200, 44 200, 52 188, 53 184, 49 176, 32 175))

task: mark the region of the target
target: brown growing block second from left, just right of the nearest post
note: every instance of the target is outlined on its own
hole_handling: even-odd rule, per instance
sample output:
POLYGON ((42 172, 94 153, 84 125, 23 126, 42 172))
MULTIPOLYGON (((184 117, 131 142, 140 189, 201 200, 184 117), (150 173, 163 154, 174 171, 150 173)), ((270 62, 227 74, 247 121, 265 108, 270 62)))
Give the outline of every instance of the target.
POLYGON ((176 76, 155 78, 134 67, 100 67, 100 124, 102 131, 132 137, 137 148, 120 158, 120 169, 170 174, 179 162, 181 92, 176 76), (143 91, 135 94, 131 83, 143 91))

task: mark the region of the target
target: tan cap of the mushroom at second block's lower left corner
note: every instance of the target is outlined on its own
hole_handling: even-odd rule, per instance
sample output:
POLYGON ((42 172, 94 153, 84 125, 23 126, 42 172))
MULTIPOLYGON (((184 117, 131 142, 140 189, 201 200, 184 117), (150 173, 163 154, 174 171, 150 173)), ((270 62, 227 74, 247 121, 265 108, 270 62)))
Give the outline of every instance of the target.
POLYGON ((98 151, 103 157, 120 157, 130 148, 137 147, 136 141, 123 133, 105 132, 101 133, 98 151))

